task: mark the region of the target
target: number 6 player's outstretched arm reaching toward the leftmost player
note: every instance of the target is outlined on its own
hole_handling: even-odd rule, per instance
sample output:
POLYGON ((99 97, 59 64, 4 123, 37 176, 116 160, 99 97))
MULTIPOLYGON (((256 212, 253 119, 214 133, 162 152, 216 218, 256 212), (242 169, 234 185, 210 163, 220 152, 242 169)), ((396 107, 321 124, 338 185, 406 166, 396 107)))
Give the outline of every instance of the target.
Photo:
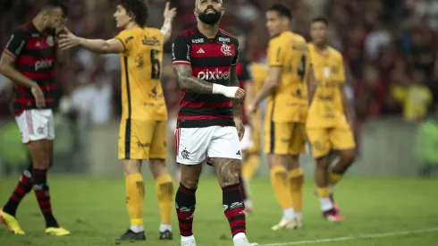
POLYGON ((67 50, 72 47, 80 46, 98 54, 120 54, 126 49, 126 45, 123 42, 128 41, 129 40, 122 40, 121 38, 108 40, 80 38, 74 36, 72 32, 68 32, 67 34, 60 35, 59 47, 61 50, 67 50))

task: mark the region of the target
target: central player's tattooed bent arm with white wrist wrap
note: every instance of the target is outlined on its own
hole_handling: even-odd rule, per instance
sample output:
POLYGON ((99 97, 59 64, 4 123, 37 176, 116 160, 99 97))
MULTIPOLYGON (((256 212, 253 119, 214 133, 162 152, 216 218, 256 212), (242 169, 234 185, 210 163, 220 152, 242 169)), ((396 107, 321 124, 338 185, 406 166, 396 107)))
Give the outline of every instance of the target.
POLYGON ((222 94, 227 98, 236 98, 238 94, 243 94, 242 91, 239 91, 239 87, 226 87, 209 83, 193 76, 190 62, 190 45, 188 45, 185 38, 181 36, 175 38, 172 53, 173 72, 175 72, 176 80, 181 89, 188 89, 200 94, 222 94))

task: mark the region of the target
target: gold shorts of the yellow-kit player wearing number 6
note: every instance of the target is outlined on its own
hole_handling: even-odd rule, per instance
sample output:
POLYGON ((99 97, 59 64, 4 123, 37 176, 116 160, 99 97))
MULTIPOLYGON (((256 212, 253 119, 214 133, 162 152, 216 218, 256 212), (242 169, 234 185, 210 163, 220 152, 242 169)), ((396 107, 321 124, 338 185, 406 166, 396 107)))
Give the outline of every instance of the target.
POLYGON ((119 159, 165 159, 167 123, 122 119, 119 132, 119 159))

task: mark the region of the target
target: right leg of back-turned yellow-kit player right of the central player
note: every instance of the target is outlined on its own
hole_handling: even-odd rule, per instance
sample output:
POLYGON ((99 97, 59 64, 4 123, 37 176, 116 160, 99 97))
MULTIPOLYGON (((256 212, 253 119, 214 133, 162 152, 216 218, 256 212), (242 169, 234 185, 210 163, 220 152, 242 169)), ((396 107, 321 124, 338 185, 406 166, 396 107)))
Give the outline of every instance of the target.
POLYGON ((292 206, 295 212, 296 228, 303 225, 303 170, 299 165, 299 154, 305 152, 306 146, 306 129, 304 123, 290 123, 291 127, 291 145, 289 148, 288 161, 286 168, 288 170, 288 181, 291 187, 292 206))

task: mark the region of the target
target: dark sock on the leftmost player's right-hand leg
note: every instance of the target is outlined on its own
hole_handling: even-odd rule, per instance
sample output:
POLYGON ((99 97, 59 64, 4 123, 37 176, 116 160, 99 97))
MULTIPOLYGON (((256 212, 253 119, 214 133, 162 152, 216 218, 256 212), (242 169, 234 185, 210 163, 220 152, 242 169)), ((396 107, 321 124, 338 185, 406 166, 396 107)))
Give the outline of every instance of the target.
POLYGON ((38 206, 46 220, 46 227, 59 227, 55 216, 52 213, 52 205, 50 204, 50 192, 47 185, 47 170, 33 168, 32 183, 33 191, 38 200, 38 206))

